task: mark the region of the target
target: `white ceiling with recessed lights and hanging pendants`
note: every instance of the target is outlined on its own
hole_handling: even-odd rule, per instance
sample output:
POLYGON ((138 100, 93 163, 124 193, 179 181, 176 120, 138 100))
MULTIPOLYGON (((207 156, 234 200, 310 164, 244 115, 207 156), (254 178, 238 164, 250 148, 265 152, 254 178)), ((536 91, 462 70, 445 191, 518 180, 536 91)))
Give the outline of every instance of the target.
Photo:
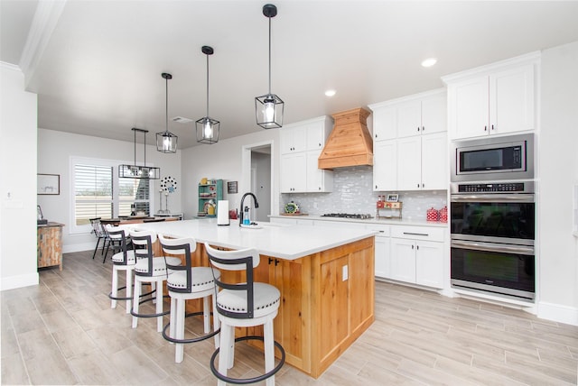
MULTIPOLYGON (((298 1, 274 3, 271 91, 284 124, 443 87, 446 74, 578 40, 577 1, 298 1), (429 69, 420 62, 435 57, 429 69), (333 88, 334 97, 324 91, 333 88)), ((43 129, 133 141, 166 128, 197 145, 207 114, 220 138, 261 129, 268 92, 264 1, 0 0, 0 60, 38 94, 43 129)), ((204 146, 204 145, 203 145, 204 146)))

